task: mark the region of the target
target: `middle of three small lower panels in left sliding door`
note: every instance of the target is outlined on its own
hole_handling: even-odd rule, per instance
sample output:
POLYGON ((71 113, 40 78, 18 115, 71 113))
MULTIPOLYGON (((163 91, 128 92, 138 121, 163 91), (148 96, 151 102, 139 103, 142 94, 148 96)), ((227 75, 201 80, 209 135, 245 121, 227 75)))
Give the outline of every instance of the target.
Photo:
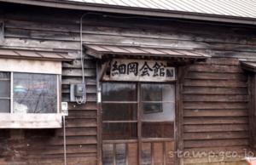
POLYGON ((116 151, 115 153, 116 165, 125 165, 126 164, 126 145, 116 144, 115 151, 116 151))

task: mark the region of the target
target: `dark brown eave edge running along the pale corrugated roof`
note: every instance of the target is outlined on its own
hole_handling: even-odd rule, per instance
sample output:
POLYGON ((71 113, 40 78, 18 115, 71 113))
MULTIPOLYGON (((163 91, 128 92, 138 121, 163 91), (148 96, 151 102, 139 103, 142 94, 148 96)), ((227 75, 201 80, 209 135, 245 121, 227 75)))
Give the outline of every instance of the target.
POLYGON ((227 22, 227 23, 237 23, 237 24, 247 24, 256 25, 256 18, 248 17, 236 17, 230 15, 218 15, 218 14, 201 14, 201 13, 191 13, 183 11, 171 11, 163 9, 143 9, 143 8, 131 8, 125 6, 115 6, 106 4, 96 4, 96 3, 80 3, 71 1, 56 1, 56 0, 0 0, 0 2, 5 3, 20 3, 27 5, 44 6, 50 8, 59 9, 78 9, 96 12, 108 12, 116 14, 136 14, 143 16, 154 16, 154 17, 164 17, 164 18, 178 18, 178 19, 190 19, 190 20, 206 20, 206 21, 216 21, 216 22, 227 22))

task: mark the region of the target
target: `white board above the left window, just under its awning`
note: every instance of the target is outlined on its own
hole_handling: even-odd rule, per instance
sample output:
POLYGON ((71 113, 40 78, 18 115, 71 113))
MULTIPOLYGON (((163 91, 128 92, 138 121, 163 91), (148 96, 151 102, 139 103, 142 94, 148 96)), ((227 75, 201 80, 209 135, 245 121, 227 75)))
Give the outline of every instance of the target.
POLYGON ((61 75, 61 61, 0 59, 0 71, 61 75))

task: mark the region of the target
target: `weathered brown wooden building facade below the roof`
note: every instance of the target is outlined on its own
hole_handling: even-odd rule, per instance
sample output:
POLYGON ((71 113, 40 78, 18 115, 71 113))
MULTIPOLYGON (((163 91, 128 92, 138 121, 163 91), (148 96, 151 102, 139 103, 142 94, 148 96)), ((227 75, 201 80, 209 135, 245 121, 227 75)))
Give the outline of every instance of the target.
MULTIPOLYGON (((17 117, 8 128, 1 113, 0 165, 243 165, 255 154, 255 25, 0 3, 0 26, 1 65, 61 61, 59 99, 68 103, 65 132, 63 120, 44 125, 46 116, 43 126, 17 117), (127 77, 136 62, 137 74, 146 64, 155 76, 157 63, 170 79, 141 79, 132 68, 127 77), (70 86, 83 75, 78 104, 70 86)), ((22 64, 0 72, 14 77, 27 72, 22 64)))

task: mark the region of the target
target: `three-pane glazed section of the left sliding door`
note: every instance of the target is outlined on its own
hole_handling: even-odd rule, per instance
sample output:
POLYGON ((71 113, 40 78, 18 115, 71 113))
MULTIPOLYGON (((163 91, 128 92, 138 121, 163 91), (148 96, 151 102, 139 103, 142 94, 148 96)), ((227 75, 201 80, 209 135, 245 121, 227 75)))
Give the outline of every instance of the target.
POLYGON ((103 139, 137 139, 136 83, 102 84, 103 139))

